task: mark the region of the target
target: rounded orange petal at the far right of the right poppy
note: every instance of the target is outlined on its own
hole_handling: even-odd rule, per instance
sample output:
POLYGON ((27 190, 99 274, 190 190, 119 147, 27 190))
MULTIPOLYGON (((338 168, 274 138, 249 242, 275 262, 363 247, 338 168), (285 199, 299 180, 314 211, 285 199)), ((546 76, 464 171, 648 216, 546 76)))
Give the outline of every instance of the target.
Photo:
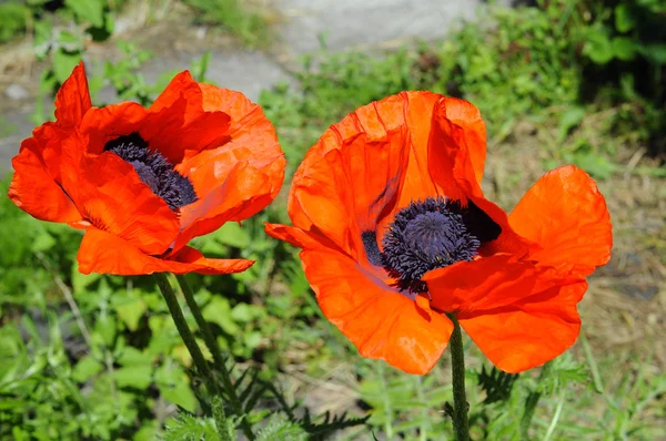
POLYGON ((610 258, 613 232, 606 201, 581 168, 541 177, 509 215, 512 227, 538 244, 529 258, 584 278, 610 258))

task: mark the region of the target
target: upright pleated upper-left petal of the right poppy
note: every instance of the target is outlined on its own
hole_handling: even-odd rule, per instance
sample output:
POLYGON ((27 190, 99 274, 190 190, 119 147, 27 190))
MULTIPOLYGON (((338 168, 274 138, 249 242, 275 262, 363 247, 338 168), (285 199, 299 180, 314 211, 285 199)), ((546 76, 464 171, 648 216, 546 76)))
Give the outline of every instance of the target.
MULTIPOLYGON (((405 181, 408 167, 418 166, 408 162, 410 96, 405 92, 357 109, 322 135, 293 178, 287 209, 295 226, 309 230, 314 225, 362 259, 361 234, 383 230, 382 218, 404 196, 404 186, 424 195, 421 181, 405 181)), ((418 95, 414 100, 418 103, 418 95)))

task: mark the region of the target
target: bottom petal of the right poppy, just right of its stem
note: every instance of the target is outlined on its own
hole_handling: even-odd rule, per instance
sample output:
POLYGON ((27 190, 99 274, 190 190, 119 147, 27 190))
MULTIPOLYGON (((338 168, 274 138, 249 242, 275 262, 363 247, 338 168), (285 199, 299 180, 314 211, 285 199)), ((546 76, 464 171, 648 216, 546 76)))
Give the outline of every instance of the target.
POLYGON ((584 280, 553 287, 505 308, 460 317, 460 322, 497 368, 522 372, 554 359, 576 341, 581 330, 576 304, 586 289, 584 280))

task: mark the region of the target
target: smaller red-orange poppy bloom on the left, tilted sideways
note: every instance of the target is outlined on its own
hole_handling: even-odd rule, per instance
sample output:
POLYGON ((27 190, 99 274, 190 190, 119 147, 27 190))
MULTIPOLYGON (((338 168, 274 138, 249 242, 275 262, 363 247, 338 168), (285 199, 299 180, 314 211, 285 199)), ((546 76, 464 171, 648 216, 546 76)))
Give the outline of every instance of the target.
POLYGON ((149 107, 90 103, 83 64, 62 84, 56 119, 12 161, 9 197, 30 215, 84 228, 89 274, 226 274, 188 242, 241 221, 278 194, 285 161, 261 107, 178 74, 149 107))

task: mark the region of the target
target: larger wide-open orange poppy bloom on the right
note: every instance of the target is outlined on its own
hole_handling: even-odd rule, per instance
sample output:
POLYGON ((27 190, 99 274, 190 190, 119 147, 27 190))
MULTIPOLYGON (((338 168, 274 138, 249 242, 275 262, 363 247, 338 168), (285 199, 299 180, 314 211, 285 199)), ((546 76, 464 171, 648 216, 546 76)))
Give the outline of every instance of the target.
POLYGON ((542 177, 511 215, 481 189, 485 127, 468 102, 403 92, 329 129, 294 175, 293 226, 326 317, 361 355, 425 373, 454 314, 501 369, 562 353, 585 277, 607 263, 610 221, 585 172, 542 177))

